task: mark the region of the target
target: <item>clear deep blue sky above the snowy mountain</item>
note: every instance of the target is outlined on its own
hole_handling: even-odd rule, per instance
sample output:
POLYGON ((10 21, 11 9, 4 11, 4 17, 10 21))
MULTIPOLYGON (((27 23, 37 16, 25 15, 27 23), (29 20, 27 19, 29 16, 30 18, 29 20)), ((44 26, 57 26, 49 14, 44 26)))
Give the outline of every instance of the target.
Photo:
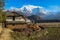
POLYGON ((5 9, 10 7, 20 8, 23 5, 35 5, 48 8, 50 6, 60 6, 60 0, 6 0, 5 9))

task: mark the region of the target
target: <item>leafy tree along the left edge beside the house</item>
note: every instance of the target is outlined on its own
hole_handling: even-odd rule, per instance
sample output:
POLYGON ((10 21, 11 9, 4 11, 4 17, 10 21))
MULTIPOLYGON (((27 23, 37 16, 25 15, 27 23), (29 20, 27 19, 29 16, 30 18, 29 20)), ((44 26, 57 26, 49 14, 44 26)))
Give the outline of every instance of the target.
POLYGON ((6 11, 4 11, 4 0, 0 0, 0 22, 6 19, 6 11))

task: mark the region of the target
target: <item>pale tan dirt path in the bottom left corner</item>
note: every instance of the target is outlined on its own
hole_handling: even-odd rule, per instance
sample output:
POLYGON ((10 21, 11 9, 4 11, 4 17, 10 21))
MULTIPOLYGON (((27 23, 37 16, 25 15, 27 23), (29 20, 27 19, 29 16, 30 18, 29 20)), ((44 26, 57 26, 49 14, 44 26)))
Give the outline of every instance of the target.
POLYGON ((1 31, 0 40, 12 40, 11 35, 10 35, 10 32, 12 32, 12 31, 10 29, 1 28, 0 31, 1 31))

